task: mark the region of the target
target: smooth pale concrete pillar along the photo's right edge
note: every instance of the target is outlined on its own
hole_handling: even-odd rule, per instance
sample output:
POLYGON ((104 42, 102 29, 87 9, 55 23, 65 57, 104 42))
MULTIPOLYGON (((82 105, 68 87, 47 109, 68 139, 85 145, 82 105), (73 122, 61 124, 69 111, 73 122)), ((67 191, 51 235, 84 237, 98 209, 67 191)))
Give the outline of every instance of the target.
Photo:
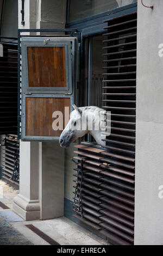
POLYGON ((163 57, 159 45, 163 44, 163 2, 143 2, 154 9, 138 1, 135 245, 162 245, 163 57))

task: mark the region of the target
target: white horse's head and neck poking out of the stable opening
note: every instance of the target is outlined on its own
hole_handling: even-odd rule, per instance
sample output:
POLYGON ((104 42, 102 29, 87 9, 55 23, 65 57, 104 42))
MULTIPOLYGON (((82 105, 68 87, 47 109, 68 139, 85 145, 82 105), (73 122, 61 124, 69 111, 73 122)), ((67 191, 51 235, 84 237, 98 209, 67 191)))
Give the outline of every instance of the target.
POLYGON ((102 139, 105 138, 102 132, 105 132, 104 113, 105 110, 99 107, 77 107, 73 105, 74 111, 70 114, 70 120, 62 131, 59 143, 62 148, 68 148, 71 142, 77 138, 90 133, 96 142, 105 145, 102 139))

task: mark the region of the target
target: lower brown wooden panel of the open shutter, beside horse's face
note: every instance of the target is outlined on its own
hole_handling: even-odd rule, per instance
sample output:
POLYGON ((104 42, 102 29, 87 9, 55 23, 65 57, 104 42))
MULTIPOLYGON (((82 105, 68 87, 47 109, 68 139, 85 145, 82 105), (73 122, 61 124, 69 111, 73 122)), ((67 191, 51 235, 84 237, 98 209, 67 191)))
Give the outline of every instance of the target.
POLYGON ((54 111, 61 111, 64 116, 65 107, 70 109, 70 98, 27 97, 26 136, 60 136, 62 131, 52 129, 55 120, 52 115, 54 111))

